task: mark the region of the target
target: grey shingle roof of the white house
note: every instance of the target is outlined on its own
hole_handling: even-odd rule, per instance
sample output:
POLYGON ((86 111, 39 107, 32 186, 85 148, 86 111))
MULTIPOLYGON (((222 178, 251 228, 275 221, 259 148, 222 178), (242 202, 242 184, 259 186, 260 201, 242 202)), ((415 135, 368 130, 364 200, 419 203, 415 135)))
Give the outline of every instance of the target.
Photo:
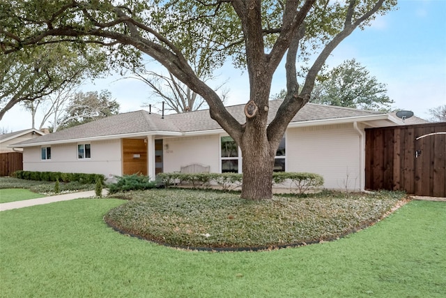
MULTIPOLYGON (((269 121, 275 117, 282 100, 269 101, 269 121)), ((240 123, 245 121, 245 105, 233 105, 226 109, 240 123)), ((291 124, 316 125, 324 123, 341 123, 351 121, 383 121, 376 126, 401 125, 402 122, 388 114, 381 112, 356 110, 348 107, 335 107, 330 105, 317 105, 307 103, 295 115, 291 124)), ((222 130, 217 121, 210 118, 209 110, 199 110, 180 114, 167 114, 162 119, 160 114, 149 113, 145 110, 127 112, 105 117, 87 124, 66 128, 56 133, 50 133, 38 137, 38 139, 20 142, 21 146, 29 147, 37 144, 61 143, 70 140, 106 140, 116 137, 139 137, 144 135, 189 135, 194 133, 206 133, 208 131, 222 130)))

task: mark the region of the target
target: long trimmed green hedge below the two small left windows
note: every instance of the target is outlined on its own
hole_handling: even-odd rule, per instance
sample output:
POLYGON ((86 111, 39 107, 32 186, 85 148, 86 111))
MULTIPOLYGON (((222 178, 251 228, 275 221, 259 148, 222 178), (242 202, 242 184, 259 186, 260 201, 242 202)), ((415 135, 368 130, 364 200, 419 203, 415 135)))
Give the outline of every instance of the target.
POLYGON ((102 174, 34 172, 22 170, 14 172, 13 177, 34 181, 63 181, 65 183, 77 181, 80 184, 95 184, 98 179, 104 183, 105 180, 105 177, 102 174))

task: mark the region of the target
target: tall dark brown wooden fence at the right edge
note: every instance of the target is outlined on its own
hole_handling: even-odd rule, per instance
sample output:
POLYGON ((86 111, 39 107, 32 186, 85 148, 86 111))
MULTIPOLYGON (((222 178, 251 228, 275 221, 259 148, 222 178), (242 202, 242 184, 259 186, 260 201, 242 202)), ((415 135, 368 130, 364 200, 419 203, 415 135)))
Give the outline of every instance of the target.
POLYGON ((367 189, 446 197, 446 122, 365 133, 367 189))

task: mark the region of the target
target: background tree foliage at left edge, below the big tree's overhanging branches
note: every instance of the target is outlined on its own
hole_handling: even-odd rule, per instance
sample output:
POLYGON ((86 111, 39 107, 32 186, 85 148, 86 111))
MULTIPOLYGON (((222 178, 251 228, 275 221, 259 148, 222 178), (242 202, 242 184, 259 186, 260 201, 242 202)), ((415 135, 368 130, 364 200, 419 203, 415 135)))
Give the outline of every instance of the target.
MULTIPOLYGON (((1 5, 0 5, 1 8, 1 5)), ((1 30, 1 27, 0 27, 1 30)), ((83 77, 95 77, 105 70, 105 56, 98 47, 72 51, 66 43, 25 47, 0 54, 0 120, 14 105, 34 109, 50 94, 83 77)))

